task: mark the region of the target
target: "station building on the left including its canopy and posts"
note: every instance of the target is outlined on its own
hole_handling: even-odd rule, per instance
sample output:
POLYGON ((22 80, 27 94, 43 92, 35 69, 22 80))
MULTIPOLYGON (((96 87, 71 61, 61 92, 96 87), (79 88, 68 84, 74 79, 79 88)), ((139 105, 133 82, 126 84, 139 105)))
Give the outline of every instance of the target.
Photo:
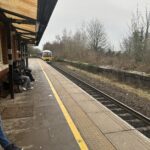
POLYGON ((57 0, 0 0, 0 93, 9 76, 14 98, 13 61, 25 60, 28 67, 28 44, 38 45, 57 0))

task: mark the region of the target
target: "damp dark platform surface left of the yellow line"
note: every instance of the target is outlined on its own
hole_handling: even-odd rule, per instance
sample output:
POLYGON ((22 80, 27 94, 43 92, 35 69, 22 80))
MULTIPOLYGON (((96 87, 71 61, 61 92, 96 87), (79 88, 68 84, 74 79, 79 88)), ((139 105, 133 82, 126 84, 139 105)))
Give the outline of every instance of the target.
POLYGON ((0 101, 8 137, 25 150, 79 150, 39 64, 30 65, 34 89, 0 101))

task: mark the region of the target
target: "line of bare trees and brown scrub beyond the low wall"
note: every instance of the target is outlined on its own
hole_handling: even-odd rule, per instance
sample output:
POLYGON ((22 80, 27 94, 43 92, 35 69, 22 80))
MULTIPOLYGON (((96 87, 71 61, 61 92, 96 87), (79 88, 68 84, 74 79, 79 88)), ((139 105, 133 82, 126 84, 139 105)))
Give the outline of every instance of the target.
POLYGON ((64 29, 54 42, 45 43, 43 50, 52 50, 57 58, 150 72, 149 27, 150 12, 146 10, 142 15, 137 9, 129 33, 120 43, 120 51, 114 50, 98 19, 83 24, 74 33, 64 29))

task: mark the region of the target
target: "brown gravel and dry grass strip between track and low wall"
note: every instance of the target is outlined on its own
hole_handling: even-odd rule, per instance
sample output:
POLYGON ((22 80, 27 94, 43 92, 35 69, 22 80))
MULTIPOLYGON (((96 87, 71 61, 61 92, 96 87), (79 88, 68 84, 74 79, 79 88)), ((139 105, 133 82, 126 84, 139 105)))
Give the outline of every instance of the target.
MULTIPOLYGON (((82 80, 90 83, 91 85, 95 86, 96 88, 102 90, 103 92, 107 93, 108 95, 116 98, 117 100, 123 102, 124 104, 130 106, 131 108, 137 110, 138 112, 150 117, 150 93, 147 90, 146 96, 140 95, 139 93, 135 93, 132 90, 127 90, 124 88, 119 88, 107 82, 107 80, 97 79, 88 73, 81 71, 80 69, 76 69, 73 67, 68 67, 67 64, 63 65, 61 63, 55 63, 59 67, 67 70, 67 72, 81 78, 82 80)), ((123 83, 119 83, 125 85, 123 83)), ((122 86, 123 87, 123 86, 122 86)), ((133 87, 131 88, 133 89, 133 87)), ((136 90, 136 89, 135 89, 136 90)), ((145 91, 145 90, 143 90, 145 91)))

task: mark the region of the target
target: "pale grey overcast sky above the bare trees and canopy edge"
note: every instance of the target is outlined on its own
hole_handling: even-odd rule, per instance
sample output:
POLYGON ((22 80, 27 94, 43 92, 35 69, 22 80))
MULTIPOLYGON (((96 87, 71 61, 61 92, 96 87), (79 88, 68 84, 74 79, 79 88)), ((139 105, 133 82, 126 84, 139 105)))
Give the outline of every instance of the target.
POLYGON ((64 28, 74 32, 83 22, 98 19, 104 25, 109 41, 118 49, 121 39, 128 33, 137 6, 144 12, 146 7, 150 8, 150 0, 58 0, 39 47, 53 42, 64 28))

